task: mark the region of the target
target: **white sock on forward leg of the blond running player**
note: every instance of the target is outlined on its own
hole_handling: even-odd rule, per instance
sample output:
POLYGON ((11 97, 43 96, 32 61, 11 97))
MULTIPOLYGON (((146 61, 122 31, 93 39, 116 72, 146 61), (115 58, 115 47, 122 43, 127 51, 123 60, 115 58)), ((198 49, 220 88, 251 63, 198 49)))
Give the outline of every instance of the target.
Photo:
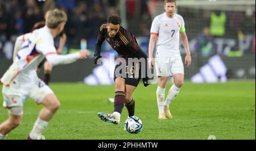
POLYGON ((48 123, 48 121, 44 121, 38 118, 34 124, 32 131, 30 132, 30 138, 32 140, 37 140, 38 137, 43 133, 44 129, 46 129, 48 123))

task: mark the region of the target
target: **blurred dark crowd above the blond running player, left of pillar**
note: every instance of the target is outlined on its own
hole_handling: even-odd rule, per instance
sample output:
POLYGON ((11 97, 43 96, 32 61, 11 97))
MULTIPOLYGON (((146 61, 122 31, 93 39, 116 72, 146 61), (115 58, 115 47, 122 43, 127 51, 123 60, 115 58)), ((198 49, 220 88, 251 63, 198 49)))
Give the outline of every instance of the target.
POLYGON ((117 13, 115 0, 1 0, 0 2, 0 41, 12 40, 16 35, 30 32, 34 23, 44 20, 46 11, 55 7, 68 14, 65 32, 69 40, 97 35, 98 27, 106 22, 106 16, 117 13))

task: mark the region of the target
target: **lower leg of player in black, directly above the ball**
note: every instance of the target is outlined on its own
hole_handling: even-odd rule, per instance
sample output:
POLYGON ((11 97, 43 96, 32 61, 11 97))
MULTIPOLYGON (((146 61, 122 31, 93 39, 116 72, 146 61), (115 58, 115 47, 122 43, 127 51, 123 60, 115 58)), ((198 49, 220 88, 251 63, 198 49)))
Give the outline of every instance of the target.
POLYGON ((135 86, 125 85, 125 106, 128 110, 129 117, 134 116, 135 112, 135 100, 131 97, 135 89, 135 86))

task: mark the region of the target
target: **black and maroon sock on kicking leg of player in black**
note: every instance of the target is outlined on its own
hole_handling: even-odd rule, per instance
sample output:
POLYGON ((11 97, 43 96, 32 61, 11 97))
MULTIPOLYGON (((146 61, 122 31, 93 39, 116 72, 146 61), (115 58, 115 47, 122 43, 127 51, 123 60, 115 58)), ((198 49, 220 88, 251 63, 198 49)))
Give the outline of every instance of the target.
POLYGON ((114 112, 119 112, 119 114, 121 114, 124 106, 125 106, 125 93, 123 91, 115 92, 114 112))

